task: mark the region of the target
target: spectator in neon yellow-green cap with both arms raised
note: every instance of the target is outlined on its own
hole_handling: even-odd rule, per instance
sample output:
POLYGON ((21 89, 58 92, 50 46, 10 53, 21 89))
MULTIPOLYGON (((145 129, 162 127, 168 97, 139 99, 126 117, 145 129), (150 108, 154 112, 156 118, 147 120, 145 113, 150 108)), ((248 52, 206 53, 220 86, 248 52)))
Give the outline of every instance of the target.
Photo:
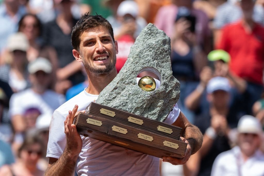
POLYGON ((229 83, 232 86, 231 105, 235 106, 237 100, 233 97, 234 94, 243 93, 246 90, 246 81, 238 76, 230 73, 228 68, 228 63, 230 60, 230 55, 224 50, 213 50, 208 54, 208 60, 210 61, 209 66, 205 66, 200 73, 200 83, 196 89, 189 94, 185 99, 185 106, 191 110, 195 111, 196 115, 206 112, 209 109, 208 101, 206 101, 206 86, 208 81, 212 77, 220 76, 229 79, 229 83))

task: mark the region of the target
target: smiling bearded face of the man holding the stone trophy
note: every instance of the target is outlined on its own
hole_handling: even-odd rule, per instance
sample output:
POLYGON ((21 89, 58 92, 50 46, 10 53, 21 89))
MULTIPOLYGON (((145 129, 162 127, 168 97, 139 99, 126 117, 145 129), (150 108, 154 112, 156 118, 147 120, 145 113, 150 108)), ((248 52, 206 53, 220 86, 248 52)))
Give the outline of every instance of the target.
MULTIPOLYGON (((88 72, 103 74, 115 68, 118 53, 117 41, 113 41, 105 27, 88 29, 80 36, 80 41, 78 53, 88 72)), ((77 55, 74 54, 74 56, 77 55)))

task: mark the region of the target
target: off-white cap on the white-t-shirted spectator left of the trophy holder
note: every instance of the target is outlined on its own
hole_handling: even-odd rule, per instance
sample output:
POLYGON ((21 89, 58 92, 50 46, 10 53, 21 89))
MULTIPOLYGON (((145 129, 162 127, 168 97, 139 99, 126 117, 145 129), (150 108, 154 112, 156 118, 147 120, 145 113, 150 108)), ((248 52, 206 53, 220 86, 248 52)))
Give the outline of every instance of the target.
POLYGON ((52 72, 52 65, 48 59, 39 57, 29 63, 28 71, 30 74, 34 74, 40 70, 48 74, 52 72))

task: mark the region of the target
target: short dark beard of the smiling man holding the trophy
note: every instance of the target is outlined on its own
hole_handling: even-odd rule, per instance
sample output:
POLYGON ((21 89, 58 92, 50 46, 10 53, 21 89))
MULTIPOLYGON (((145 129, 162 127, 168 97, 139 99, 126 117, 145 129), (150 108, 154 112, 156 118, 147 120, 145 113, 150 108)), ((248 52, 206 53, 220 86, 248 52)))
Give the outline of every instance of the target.
POLYGON ((114 62, 113 63, 110 63, 108 65, 106 65, 105 68, 102 68, 100 66, 94 66, 92 67, 91 65, 89 65, 89 63, 84 59, 84 57, 82 56, 83 58, 83 65, 84 67, 89 70, 89 72, 91 73, 94 73, 94 74, 104 74, 104 73, 109 73, 114 67, 115 67, 115 64, 116 64, 116 59, 114 58, 114 62))

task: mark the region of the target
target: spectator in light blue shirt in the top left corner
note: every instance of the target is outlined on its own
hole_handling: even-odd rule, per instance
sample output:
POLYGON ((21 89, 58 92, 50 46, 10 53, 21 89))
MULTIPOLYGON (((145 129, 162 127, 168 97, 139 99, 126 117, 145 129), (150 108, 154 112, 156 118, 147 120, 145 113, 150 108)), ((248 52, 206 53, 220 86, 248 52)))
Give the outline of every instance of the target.
MULTIPOLYGON (((0 5, 0 54, 3 52, 8 37, 17 31, 17 23, 26 13, 26 8, 20 6, 18 0, 4 0, 0 5)), ((0 65, 3 61, 0 61, 0 65)))

